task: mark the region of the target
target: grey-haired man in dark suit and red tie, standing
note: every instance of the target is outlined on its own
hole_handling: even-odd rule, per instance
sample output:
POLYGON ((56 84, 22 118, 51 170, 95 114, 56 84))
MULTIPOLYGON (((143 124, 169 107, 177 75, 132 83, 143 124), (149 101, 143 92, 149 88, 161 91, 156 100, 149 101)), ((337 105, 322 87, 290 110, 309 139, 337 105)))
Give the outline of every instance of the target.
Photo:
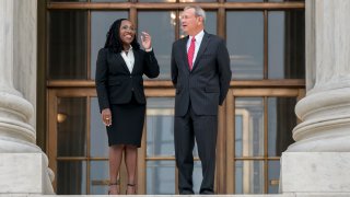
POLYGON ((182 28, 188 36, 176 40, 172 50, 172 80, 175 96, 175 157, 179 194, 194 194, 192 150, 195 139, 203 179, 200 194, 213 194, 218 106, 226 96, 230 57, 225 42, 205 32, 206 13, 186 7, 182 28))

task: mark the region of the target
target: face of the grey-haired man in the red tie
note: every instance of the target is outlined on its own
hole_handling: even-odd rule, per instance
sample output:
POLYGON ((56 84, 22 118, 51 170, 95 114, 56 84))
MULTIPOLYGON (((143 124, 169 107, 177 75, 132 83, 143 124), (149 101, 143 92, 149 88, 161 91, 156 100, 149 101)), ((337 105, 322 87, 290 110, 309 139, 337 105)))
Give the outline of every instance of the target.
POLYGON ((182 13, 182 28, 186 34, 196 35, 201 24, 201 18, 196 16, 195 9, 187 9, 182 13))

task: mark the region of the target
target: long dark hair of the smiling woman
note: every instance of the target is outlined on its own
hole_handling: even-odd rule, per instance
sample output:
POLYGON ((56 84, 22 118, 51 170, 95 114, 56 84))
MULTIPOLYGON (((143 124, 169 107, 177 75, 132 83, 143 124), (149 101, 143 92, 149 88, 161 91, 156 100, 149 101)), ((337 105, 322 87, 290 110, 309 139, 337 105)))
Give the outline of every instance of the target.
MULTIPOLYGON (((120 33, 120 25, 121 21, 125 21, 127 19, 118 19, 116 20, 109 27, 109 31, 107 33, 107 39, 105 43, 104 48, 108 48, 109 50, 119 54, 122 50, 122 42, 120 39, 119 33, 120 33)), ((129 20, 127 20, 129 21, 129 20)), ((135 36, 133 40, 131 42, 131 46, 133 49, 140 49, 140 44, 137 40, 137 36, 135 36)))

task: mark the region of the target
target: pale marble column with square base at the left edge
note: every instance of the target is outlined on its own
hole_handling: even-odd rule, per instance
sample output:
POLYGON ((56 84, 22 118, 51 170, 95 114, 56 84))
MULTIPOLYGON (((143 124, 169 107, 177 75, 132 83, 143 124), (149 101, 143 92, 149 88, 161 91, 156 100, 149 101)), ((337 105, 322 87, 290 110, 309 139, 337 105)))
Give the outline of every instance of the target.
POLYGON ((0 0, 0 195, 54 194, 35 144, 36 9, 36 0, 0 0))

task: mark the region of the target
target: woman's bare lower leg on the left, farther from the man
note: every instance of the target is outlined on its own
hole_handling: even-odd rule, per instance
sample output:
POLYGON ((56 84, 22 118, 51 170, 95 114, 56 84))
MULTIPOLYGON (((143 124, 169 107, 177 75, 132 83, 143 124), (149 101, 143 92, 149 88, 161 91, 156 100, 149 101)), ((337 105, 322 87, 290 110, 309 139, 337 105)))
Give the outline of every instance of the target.
POLYGON ((109 190, 108 194, 119 194, 118 173, 122 159, 122 150, 125 146, 110 146, 109 147, 109 190))

